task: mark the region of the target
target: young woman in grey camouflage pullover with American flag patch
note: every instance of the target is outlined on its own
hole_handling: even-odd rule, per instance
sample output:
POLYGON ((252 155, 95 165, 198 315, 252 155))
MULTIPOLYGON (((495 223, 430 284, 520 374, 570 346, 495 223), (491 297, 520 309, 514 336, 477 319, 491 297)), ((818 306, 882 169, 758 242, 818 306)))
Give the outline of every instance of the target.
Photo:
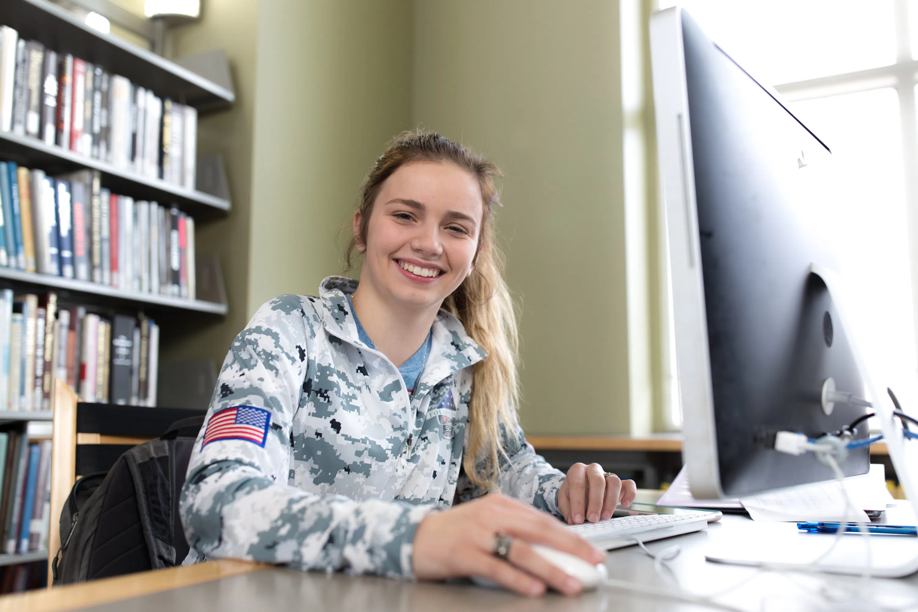
POLYGON ((580 590, 530 543, 600 562, 555 517, 608 518, 636 490, 596 463, 565 477, 523 437, 498 175, 431 132, 375 162, 347 257, 360 283, 275 297, 233 341, 182 492, 186 563, 580 590))

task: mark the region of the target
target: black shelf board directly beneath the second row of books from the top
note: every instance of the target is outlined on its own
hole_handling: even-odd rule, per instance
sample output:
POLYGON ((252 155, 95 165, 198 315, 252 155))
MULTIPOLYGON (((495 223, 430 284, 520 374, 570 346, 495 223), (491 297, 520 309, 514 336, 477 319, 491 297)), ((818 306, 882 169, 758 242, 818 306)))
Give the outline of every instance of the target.
POLYGON ((0 268, 0 286, 21 288, 22 285, 36 287, 53 287, 73 294, 93 295, 94 302, 101 306, 115 304, 118 306, 149 305, 168 309, 180 309, 212 315, 226 315, 227 305, 203 300, 189 300, 171 295, 142 294, 134 291, 121 291, 105 284, 77 281, 62 276, 23 272, 11 268, 0 268), (5 282, 6 281, 6 282, 5 282), (102 299, 98 299, 102 298, 102 299))

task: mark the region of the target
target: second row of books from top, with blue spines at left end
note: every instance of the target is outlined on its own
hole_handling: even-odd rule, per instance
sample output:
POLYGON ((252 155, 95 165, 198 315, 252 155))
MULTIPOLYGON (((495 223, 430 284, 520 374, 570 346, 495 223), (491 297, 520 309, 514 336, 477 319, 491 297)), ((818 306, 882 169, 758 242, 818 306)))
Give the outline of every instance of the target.
POLYGON ((0 266, 195 299, 195 219, 101 186, 0 161, 0 266))

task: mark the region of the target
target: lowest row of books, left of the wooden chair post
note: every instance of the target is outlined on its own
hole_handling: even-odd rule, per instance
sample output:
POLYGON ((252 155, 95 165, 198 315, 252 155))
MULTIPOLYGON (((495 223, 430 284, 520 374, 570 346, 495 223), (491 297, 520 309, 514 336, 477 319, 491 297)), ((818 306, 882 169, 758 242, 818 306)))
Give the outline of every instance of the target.
POLYGON ((51 441, 0 432, 0 545, 6 554, 48 549, 51 441))

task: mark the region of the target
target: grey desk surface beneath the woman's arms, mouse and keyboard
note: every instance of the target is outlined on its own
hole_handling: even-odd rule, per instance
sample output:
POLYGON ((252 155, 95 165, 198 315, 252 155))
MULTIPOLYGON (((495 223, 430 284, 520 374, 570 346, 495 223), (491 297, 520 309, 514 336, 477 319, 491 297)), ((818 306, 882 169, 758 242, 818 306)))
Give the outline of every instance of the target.
MULTIPOLYGON (((784 524, 780 527, 795 529, 793 524, 784 524)), ((731 593, 719 598, 718 601, 723 604, 737 606, 750 612, 760 609, 810 612, 836 608, 837 606, 820 599, 815 594, 819 593, 823 585, 829 592, 838 594, 841 588, 856 584, 856 579, 833 575, 765 573, 751 568, 706 562, 704 559, 704 551, 710 544, 723 540, 746 540, 750 542, 750 545, 755 546, 757 541, 762 541, 768 537, 768 534, 774 533, 774 529, 776 529, 775 523, 756 523, 746 517, 728 515, 723 517, 720 523, 712 524, 706 531, 667 540, 657 540, 648 543, 647 546, 651 551, 661 551, 666 547, 678 544, 682 551, 671 562, 671 567, 679 583, 694 593, 720 592, 738 584, 739 586, 731 593)), ((655 588, 666 587, 666 582, 655 573, 654 562, 636 547, 610 551, 607 566, 613 578, 655 588)), ((191 569, 176 568, 174 571, 184 572, 191 569)), ((161 572, 173 572, 173 570, 161 572)), ((77 586, 90 585, 91 583, 77 586)), ((874 579, 871 590, 875 593, 882 593, 884 597, 896 598, 900 606, 910 601, 918 602, 918 574, 901 580, 874 579)), ((339 610, 349 612, 352 610, 360 612, 370 610, 402 610, 405 612, 470 610, 481 612, 485 609, 513 612, 517 610, 689 612, 703 609, 700 606, 648 599, 642 595, 631 595, 613 590, 599 590, 572 598, 550 594, 542 599, 533 600, 465 583, 410 583, 372 576, 348 576, 341 573, 302 573, 280 567, 256 573, 229 575, 229 577, 212 582, 140 595, 129 600, 114 601, 113 598, 108 597, 103 598, 102 601, 112 603, 88 609, 98 612, 114 612, 121 609, 130 609, 135 612, 162 612, 162 610, 171 609, 252 612, 253 609, 300 608, 328 610, 329 612, 339 610)), ((86 602, 81 601, 80 604, 85 606, 86 602)), ((51 608, 28 606, 18 609, 51 608)))

